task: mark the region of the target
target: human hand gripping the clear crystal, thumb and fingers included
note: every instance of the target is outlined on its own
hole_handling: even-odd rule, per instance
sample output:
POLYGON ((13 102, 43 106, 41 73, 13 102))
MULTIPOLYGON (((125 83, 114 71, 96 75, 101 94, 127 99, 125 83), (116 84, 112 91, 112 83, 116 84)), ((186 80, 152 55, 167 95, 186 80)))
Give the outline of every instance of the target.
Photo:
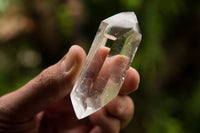
POLYGON ((91 116, 77 120, 69 99, 86 54, 79 46, 20 89, 0 97, 0 133, 117 133, 133 116, 127 94, 135 91, 139 74, 128 70, 119 95, 91 116))

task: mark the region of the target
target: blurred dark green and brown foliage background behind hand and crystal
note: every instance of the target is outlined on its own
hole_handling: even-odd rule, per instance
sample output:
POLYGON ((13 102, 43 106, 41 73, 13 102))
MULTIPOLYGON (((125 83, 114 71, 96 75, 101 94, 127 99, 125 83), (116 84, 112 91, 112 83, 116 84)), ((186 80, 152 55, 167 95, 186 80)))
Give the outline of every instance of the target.
POLYGON ((200 131, 199 0, 0 0, 0 96, 56 63, 71 45, 89 50, 101 20, 137 14, 143 40, 135 115, 122 133, 200 131))

